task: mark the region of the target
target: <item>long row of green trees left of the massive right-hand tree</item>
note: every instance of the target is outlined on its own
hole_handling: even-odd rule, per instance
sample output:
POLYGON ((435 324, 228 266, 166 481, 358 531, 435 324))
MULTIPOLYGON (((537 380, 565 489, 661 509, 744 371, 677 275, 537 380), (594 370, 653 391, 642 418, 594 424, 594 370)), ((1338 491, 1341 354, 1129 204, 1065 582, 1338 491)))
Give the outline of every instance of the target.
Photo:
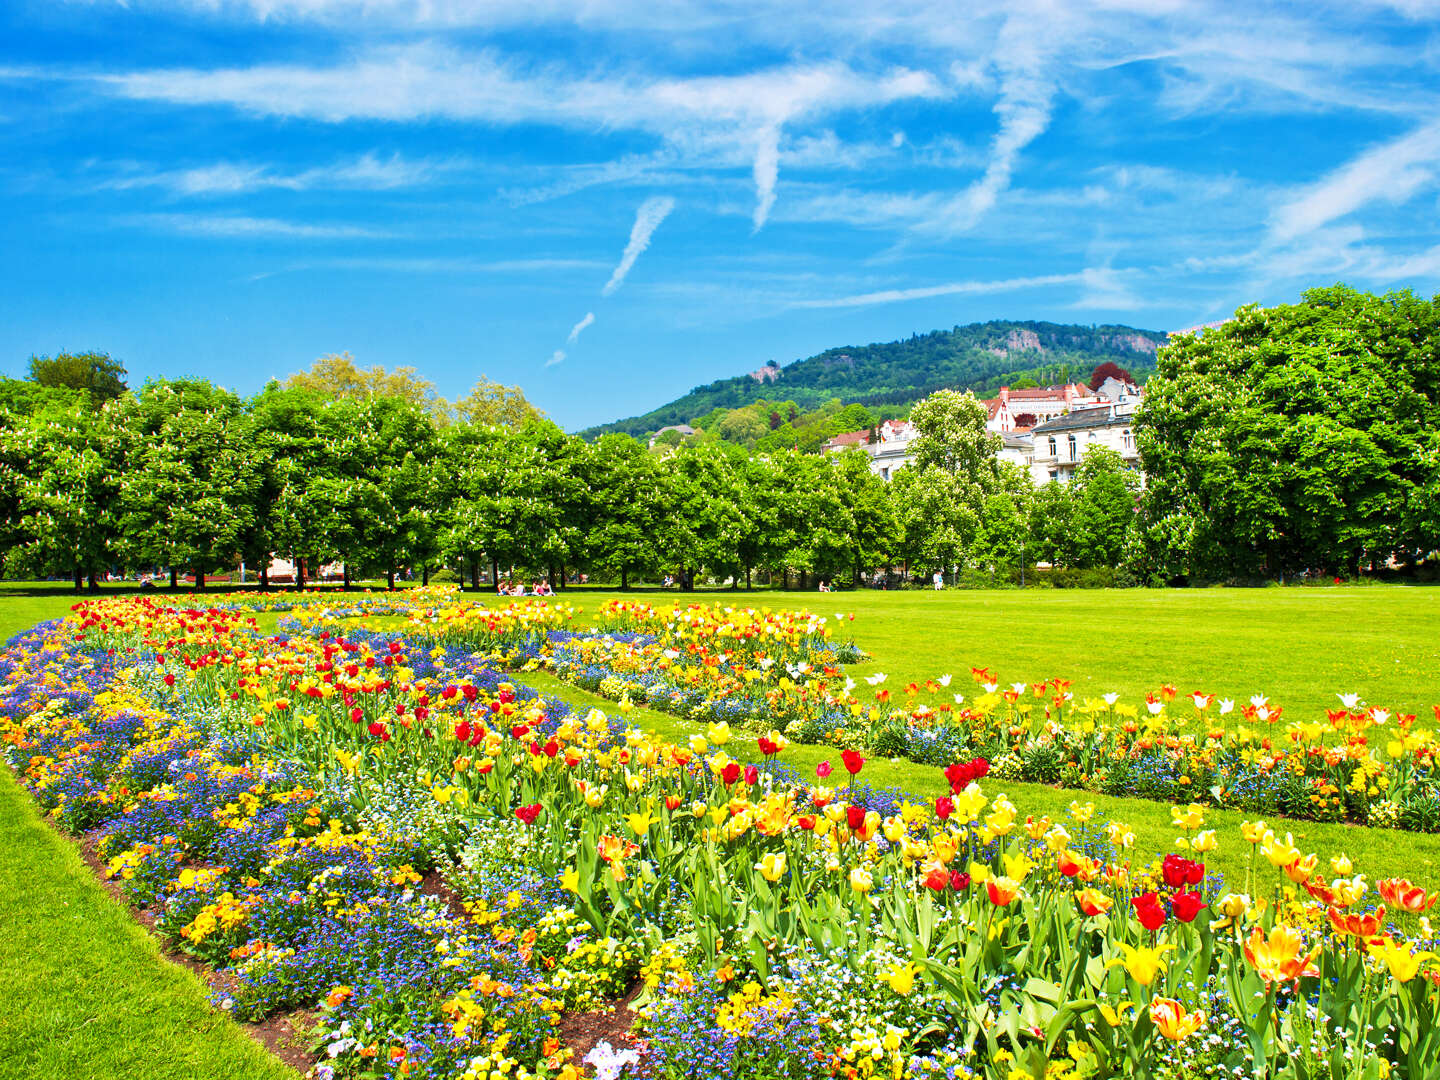
MULTIPOLYGON (((200 379, 104 397, 12 380, 0 387, 3 569, 81 588, 168 567, 203 586, 279 554, 311 575, 343 562, 347 577, 392 585, 400 570, 478 583, 482 570, 495 580, 517 567, 556 583, 586 572, 622 586, 661 575, 740 586, 765 572, 808 588, 891 566, 1011 566, 1022 550, 1031 562, 1112 557, 1043 516, 1027 547, 1037 508, 1060 504, 994 459, 972 396, 942 392, 913 418, 924 456, 886 484, 861 449, 585 442, 533 412, 438 422, 416 395, 337 396, 307 380, 249 399, 200 379)), ((1133 516, 1133 477, 1113 505, 1092 498, 1112 472, 1123 472, 1117 461, 1090 462, 1063 492, 1066 521, 1133 516)))

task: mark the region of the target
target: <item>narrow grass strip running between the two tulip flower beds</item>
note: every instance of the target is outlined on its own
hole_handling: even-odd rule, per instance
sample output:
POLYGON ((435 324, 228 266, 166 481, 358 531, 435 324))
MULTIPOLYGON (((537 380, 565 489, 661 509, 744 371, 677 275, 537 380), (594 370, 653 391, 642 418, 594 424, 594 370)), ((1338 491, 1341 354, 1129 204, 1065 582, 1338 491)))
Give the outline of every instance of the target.
MULTIPOLYGON (((544 694, 569 701, 576 708, 593 707, 615 713, 613 701, 563 683, 547 672, 527 671, 517 675, 517 680, 544 694)), ((654 708, 632 708, 626 719, 636 727, 671 742, 684 742, 691 734, 704 734, 704 724, 681 720, 654 708)), ((737 734, 724 749, 732 757, 742 762, 763 762, 755 739, 750 736, 737 734)), ((796 772, 801 779, 812 782, 815 766, 822 760, 829 760, 835 768, 829 783, 835 785, 844 780, 845 773, 840 768, 840 755, 834 749, 791 743, 779 760, 796 772)), ((876 788, 899 788, 927 799, 949 791, 940 769, 906 760, 870 759, 865 762, 861 779, 868 780, 876 788)), ((1122 799, 1050 788, 1043 783, 996 780, 995 778, 988 778, 982 786, 991 798, 1001 792, 1008 795, 1020 811, 1021 819, 1027 815, 1037 818, 1050 815, 1058 822, 1067 822, 1068 806, 1073 801, 1093 802, 1096 816, 1125 822, 1135 831, 1135 852, 1140 863, 1148 861, 1151 855, 1174 850, 1175 838, 1181 835, 1181 831, 1171 822, 1169 805, 1149 799, 1122 799)), ((1223 873, 1227 886, 1234 891, 1244 890, 1246 868, 1250 861, 1250 845, 1240 837, 1240 824, 1246 818, 1247 815, 1234 811, 1212 809, 1205 812, 1205 827, 1215 829, 1220 838, 1220 848, 1205 855, 1205 864, 1211 871, 1223 873)), ((1286 818, 1270 818, 1267 824, 1282 834, 1292 832, 1302 851, 1315 851, 1322 860, 1339 852, 1348 854, 1355 863, 1355 871, 1367 874, 1371 881, 1382 877, 1408 877, 1426 887, 1440 887, 1440 834, 1328 825, 1286 818)), ((1261 883, 1260 891, 1269 888, 1272 883, 1283 880, 1283 876, 1273 870, 1264 858, 1259 860, 1256 873, 1261 883)))

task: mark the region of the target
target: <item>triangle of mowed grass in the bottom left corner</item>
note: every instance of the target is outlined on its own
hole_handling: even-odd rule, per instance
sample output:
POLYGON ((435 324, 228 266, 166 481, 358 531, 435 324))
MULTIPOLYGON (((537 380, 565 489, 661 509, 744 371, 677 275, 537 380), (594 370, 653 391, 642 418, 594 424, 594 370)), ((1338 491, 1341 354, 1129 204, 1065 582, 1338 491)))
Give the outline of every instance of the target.
POLYGON ((96 881, 0 769, 0 1074, 295 1080, 96 881))

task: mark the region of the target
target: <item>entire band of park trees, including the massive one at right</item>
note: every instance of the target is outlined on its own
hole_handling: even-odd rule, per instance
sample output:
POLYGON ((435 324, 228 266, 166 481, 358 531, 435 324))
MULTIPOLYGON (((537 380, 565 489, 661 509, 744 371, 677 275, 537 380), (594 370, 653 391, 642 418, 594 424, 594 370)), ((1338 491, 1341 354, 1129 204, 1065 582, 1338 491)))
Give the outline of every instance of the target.
POLYGON ((912 408, 914 461, 887 484, 858 448, 588 442, 514 387, 449 405, 347 357, 249 399, 200 379, 131 392, 104 354, 40 357, 0 382, 3 573, 203 582, 279 554, 392 583, 516 567, 806 588, 890 567, 1159 585, 1416 566, 1440 549, 1437 346, 1440 305, 1408 292, 1241 308, 1161 350, 1135 425, 1143 485, 1093 448, 1041 487, 955 390, 912 408))

